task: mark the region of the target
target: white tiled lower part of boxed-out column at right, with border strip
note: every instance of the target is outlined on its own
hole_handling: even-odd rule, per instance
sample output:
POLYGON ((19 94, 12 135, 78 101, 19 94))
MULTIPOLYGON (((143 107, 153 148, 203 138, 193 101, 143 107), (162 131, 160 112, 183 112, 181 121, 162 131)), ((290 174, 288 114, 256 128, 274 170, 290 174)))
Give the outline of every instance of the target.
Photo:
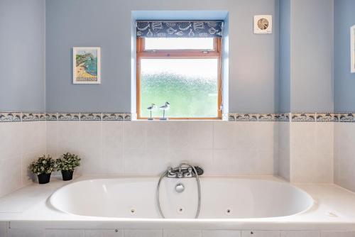
POLYGON ((290 182, 332 183, 338 114, 292 114, 279 124, 278 175, 290 182))

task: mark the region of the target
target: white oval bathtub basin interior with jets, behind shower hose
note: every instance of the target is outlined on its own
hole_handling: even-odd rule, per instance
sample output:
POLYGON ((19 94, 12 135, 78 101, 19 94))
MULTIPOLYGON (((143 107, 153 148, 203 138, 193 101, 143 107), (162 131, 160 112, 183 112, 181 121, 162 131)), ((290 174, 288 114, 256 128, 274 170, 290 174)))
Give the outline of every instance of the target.
MULTIPOLYGON (((309 209, 309 194, 286 182, 240 177, 201 177, 199 219, 249 219, 290 216, 309 209)), ((136 219, 160 219, 155 177, 83 180, 67 184, 50 204, 68 214, 136 219)), ((193 219, 197 209, 195 178, 165 178, 160 202, 168 219, 193 219), (181 182, 185 191, 175 192, 181 182)))

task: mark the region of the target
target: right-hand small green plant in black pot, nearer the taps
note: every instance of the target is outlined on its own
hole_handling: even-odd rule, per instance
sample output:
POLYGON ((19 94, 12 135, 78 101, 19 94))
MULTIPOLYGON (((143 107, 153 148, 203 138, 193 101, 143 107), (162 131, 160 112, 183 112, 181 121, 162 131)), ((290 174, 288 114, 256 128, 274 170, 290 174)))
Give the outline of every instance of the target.
POLYGON ((57 160, 58 170, 62 172, 62 177, 64 181, 72 180, 72 174, 74 173, 75 167, 80 165, 80 158, 75 154, 65 153, 62 158, 57 160))

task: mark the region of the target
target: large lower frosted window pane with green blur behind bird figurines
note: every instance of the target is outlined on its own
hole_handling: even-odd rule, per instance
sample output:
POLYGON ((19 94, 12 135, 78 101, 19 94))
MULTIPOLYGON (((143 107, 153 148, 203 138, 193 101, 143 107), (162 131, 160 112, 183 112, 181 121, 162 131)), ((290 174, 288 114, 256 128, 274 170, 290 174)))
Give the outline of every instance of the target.
MULTIPOLYGON (((168 117, 217 117, 217 59, 142 59, 141 116, 168 101, 168 117)), ((156 109, 153 116, 162 116, 156 109)))

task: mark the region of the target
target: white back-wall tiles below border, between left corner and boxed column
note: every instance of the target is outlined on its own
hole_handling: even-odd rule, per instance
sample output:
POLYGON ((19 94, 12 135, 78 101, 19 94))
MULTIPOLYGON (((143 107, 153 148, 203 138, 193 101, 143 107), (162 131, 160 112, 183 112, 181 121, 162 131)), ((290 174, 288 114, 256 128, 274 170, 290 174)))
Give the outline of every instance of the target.
POLYGON ((47 121, 48 153, 82 158, 82 174, 159 175, 183 160, 207 175, 273 175, 275 122, 47 121))

